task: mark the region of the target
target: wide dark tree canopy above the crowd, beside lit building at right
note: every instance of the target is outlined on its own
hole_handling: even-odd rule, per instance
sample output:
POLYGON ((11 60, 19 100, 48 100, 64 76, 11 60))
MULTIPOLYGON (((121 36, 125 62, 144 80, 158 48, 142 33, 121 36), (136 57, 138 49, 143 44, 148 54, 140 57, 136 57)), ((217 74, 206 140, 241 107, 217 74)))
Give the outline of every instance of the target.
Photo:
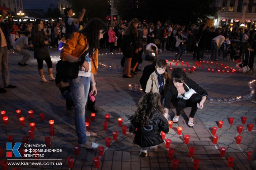
POLYGON ((114 6, 124 20, 138 17, 147 22, 168 21, 197 24, 215 15, 214 0, 116 0, 114 6))

